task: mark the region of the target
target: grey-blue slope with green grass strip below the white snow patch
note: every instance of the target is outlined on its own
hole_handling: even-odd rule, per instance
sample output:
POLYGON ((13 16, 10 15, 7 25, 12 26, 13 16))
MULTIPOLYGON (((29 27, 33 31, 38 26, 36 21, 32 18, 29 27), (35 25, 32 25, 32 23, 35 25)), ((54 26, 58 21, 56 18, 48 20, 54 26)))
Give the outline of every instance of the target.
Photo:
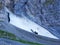
POLYGON ((0 32, 1 32, 1 30, 6 32, 6 35, 4 33, 4 35, 6 37, 3 35, 3 32, 2 32, 2 36, 3 37, 0 38, 2 43, 4 41, 5 43, 10 42, 11 45, 16 45, 16 44, 29 45, 30 43, 33 44, 33 45, 37 45, 37 44, 39 44, 39 45, 40 44, 44 44, 44 45, 59 45, 60 44, 59 43, 60 41, 58 39, 52 39, 52 38, 36 35, 36 34, 30 33, 30 32, 27 32, 25 30, 22 30, 20 28, 17 28, 17 27, 15 27, 15 26, 13 26, 11 24, 8 24, 8 23, 3 23, 1 26, 2 27, 0 28, 0 32), (6 24, 6 25, 4 25, 4 24, 6 24), (9 34, 11 34, 11 33, 12 33, 11 36, 17 36, 16 37, 17 40, 15 39, 15 37, 12 37, 13 39, 10 39, 11 36, 9 37, 9 34), (24 40, 24 41, 23 42, 20 41, 20 43, 18 43, 19 39, 24 40), (17 41, 17 42, 15 42, 15 41, 17 41))

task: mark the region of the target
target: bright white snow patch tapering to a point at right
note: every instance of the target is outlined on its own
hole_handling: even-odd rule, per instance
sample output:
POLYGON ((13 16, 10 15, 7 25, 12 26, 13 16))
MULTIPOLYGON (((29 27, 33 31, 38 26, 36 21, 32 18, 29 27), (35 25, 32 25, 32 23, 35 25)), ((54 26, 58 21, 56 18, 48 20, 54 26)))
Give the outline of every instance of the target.
POLYGON ((28 18, 26 18, 26 17, 20 18, 20 17, 14 15, 13 13, 11 13, 7 8, 6 8, 6 10, 10 13, 10 20, 11 20, 10 23, 12 25, 15 25, 16 27, 19 27, 19 28, 24 29, 29 32, 32 32, 31 31, 31 29, 32 29, 33 31, 38 32, 38 35, 58 39, 56 36, 51 34, 48 30, 39 26, 38 24, 34 23, 33 21, 29 20, 28 18))

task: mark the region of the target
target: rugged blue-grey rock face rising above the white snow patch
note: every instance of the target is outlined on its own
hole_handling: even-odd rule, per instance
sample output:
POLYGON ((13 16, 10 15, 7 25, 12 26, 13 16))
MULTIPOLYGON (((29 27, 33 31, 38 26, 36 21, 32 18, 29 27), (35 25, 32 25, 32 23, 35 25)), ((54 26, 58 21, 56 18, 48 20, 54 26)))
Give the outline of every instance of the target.
POLYGON ((9 0, 6 5, 19 17, 27 17, 60 38, 59 0, 9 0), (12 5, 11 5, 12 4, 12 5), (55 34, 56 32, 56 34, 55 34))

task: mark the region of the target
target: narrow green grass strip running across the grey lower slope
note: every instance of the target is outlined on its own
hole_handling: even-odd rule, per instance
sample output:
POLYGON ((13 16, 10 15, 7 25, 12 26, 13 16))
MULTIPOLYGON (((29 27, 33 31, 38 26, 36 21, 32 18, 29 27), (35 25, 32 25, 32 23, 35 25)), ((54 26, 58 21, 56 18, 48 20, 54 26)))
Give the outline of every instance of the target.
POLYGON ((10 39, 10 40, 21 42, 21 43, 24 43, 24 44, 42 45, 42 44, 39 44, 39 43, 22 40, 22 39, 16 37, 14 34, 6 32, 6 31, 2 31, 2 30, 0 30, 0 38, 6 38, 6 39, 10 39))

